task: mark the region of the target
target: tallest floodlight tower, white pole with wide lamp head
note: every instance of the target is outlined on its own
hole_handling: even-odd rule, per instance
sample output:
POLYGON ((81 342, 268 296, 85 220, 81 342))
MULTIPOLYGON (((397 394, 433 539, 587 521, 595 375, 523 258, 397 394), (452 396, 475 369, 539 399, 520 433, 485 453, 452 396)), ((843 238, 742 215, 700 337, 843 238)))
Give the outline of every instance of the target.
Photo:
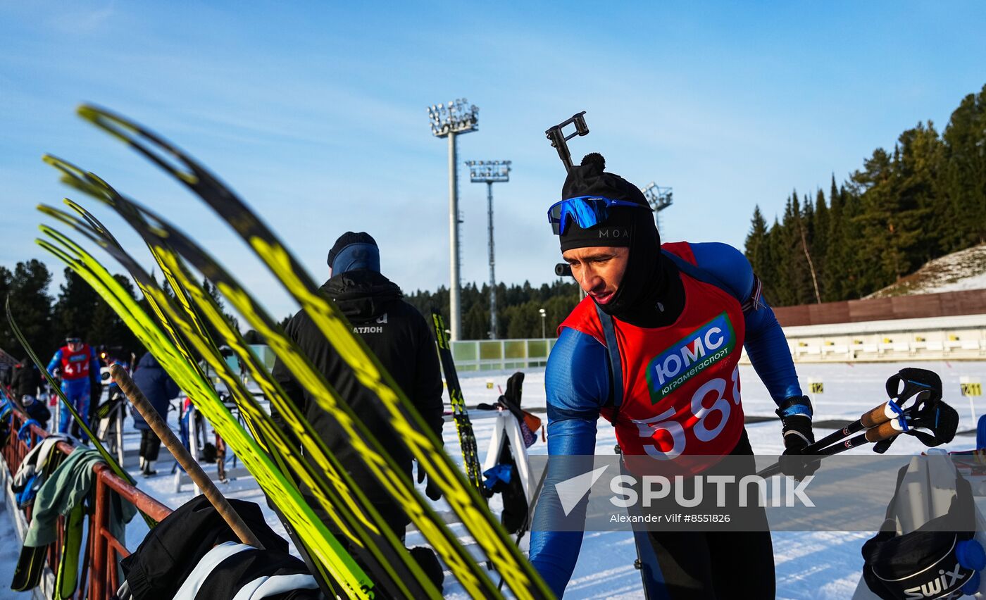
POLYGON ((456 160, 456 137, 479 128, 479 108, 460 98, 447 104, 432 104, 428 107, 432 135, 449 138, 449 249, 452 261, 452 282, 449 286, 449 325, 450 339, 458 340, 458 326, 461 323, 458 291, 458 163, 456 160))

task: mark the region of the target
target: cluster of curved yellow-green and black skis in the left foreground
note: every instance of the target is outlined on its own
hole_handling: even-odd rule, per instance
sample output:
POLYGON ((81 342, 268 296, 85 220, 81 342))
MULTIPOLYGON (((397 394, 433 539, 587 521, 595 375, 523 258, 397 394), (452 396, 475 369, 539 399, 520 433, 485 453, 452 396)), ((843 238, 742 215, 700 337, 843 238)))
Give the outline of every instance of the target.
MULTIPOLYGON (((482 554, 475 557, 467 552, 344 399, 229 271, 164 217, 117 192, 96 174, 52 156, 44 157, 46 163, 61 171, 65 183, 115 211, 142 237, 171 293, 131 257, 96 217, 73 200, 65 200, 67 209, 41 205, 38 210, 98 245, 122 265, 136 282, 150 313, 92 254, 65 233, 41 225, 43 235, 37 243, 65 262, 106 300, 175 378, 217 433, 243 459, 264 494, 275 505, 297 548, 316 571, 314 574, 322 589, 339 597, 441 597, 403 542, 387 528, 373 504, 352 485, 343 465, 250 352, 240 332, 223 317, 216 302, 203 289, 200 283, 203 277, 232 303, 278 359, 292 369, 318 406, 338 422, 351 446, 391 491, 466 593, 473 597, 502 596, 493 583, 489 565, 499 572, 516 597, 551 597, 549 588, 477 491, 478 473, 473 470, 478 464, 475 462, 475 441, 471 439, 470 442, 467 418, 458 417, 459 412, 464 414, 464 406, 457 406, 454 398, 468 479, 444 452, 441 440, 426 427, 377 358, 368 351, 361 338, 353 334, 342 313, 330 300, 317 293, 316 282, 236 194, 175 146, 143 127, 95 106, 82 106, 79 114, 174 176, 246 241, 277 281, 311 316, 360 382, 379 398, 376 405, 379 418, 391 424, 394 435, 424 467, 429 480, 438 485, 482 554), (211 339, 207 333, 210 330, 218 332, 222 339, 211 339), (233 349, 249 378, 259 384, 271 407, 283 416, 284 429, 270 419, 246 390, 239 373, 229 367, 220 353, 220 345, 233 349), (204 375, 200 367, 202 362, 214 369, 227 386, 246 429, 233 417, 204 375), (294 440, 301 442, 301 450, 294 440), (338 530, 344 532, 345 540, 334 537, 317 518, 313 506, 299 493, 296 480, 317 491, 318 507, 330 515, 338 530), (345 548, 355 550, 350 555, 345 548)), ((447 369, 447 377, 448 372, 447 369)))

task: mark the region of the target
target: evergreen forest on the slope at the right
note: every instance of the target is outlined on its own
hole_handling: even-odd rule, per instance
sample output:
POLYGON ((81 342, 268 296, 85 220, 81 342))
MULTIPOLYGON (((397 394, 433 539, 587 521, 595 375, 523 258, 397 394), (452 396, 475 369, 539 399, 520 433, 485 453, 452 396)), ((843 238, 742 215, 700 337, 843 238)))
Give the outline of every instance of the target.
POLYGON ((792 191, 768 224, 753 209, 745 254, 773 305, 854 300, 925 262, 986 241, 986 86, 878 148, 848 179, 792 191))

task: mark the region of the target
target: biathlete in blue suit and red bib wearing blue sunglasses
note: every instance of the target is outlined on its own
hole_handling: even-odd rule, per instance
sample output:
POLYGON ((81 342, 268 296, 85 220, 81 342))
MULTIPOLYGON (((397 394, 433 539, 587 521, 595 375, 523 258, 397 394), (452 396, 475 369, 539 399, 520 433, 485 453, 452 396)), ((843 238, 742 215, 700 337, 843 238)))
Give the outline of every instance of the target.
MULTIPOLYGON (((572 167, 562 201, 548 211, 587 293, 558 327, 545 371, 549 455, 593 455, 599 417, 614 427, 624 460, 752 455, 740 403, 743 347, 778 405, 785 453, 799 454, 814 441, 810 400, 749 262, 723 243, 662 245, 641 191, 604 168, 595 153, 572 167)), ((789 470, 798 477, 817 466, 795 460, 789 470)), ((552 530, 562 510, 553 478, 549 470, 530 560, 561 596, 584 532, 552 530)), ((584 519, 587 502, 568 518, 584 519)), ((774 597, 769 531, 646 531, 635 540, 648 598, 774 597)))

